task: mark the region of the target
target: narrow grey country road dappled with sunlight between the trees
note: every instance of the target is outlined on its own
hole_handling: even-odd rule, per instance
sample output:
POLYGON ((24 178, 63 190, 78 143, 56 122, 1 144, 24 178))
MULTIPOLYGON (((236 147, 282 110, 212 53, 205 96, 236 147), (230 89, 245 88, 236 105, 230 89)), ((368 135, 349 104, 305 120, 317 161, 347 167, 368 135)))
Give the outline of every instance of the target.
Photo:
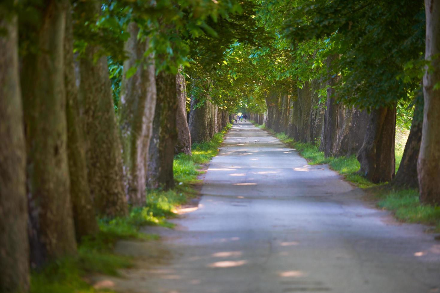
POLYGON ((160 241, 126 241, 140 267, 102 277, 120 292, 440 292, 440 242, 251 123, 236 123, 197 210, 160 241), (156 244, 152 243, 156 242, 156 244), (165 260, 161 255, 165 255, 165 260), (153 259, 153 261, 152 261, 153 259), (144 262, 144 264, 143 264, 144 262))

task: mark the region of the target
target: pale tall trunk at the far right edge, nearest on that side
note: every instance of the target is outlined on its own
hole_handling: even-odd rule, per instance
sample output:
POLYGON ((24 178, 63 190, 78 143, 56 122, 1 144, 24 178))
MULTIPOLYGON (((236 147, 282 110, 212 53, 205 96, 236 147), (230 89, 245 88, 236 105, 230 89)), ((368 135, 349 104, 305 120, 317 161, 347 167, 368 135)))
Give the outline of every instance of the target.
POLYGON ((425 106, 417 163, 418 184, 422 203, 440 205, 440 0, 425 0, 425 13, 425 60, 431 62, 433 71, 426 70, 423 77, 425 106))

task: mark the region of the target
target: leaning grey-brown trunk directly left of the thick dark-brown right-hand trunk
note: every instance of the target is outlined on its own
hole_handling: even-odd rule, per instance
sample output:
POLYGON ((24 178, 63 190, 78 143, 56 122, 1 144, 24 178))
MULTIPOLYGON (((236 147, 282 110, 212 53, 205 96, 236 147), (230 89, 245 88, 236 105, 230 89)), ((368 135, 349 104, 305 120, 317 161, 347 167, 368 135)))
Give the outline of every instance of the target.
POLYGON ((355 107, 345 107, 344 121, 338 130, 332 156, 351 156, 357 154, 363 144, 368 126, 367 111, 355 107))

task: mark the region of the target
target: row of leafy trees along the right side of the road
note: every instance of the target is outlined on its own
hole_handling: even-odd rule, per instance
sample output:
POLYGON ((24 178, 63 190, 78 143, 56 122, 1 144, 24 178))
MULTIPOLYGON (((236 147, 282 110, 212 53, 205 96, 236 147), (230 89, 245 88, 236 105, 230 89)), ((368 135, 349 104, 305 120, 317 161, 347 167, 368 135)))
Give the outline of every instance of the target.
MULTIPOLYGON (((266 73, 248 99, 251 119, 318 143, 326 157, 356 154, 359 174, 370 181, 419 188, 422 203, 440 204, 439 7, 439 1, 263 7, 277 37, 265 49, 242 48, 256 65, 246 70, 266 73), (396 123, 411 131, 395 174, 396 123)), ((249 66, 239 63, 235 68, 249 66)))

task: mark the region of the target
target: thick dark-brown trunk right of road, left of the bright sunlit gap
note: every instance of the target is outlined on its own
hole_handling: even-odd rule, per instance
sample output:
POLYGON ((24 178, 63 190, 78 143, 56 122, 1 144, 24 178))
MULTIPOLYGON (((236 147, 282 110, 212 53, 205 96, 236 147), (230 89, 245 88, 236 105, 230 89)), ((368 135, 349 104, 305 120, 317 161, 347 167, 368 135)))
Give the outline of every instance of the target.
POLYGON ((373 183, 392 180, 396 171, 395 136, 396 106, 372 110, 363 145, 357 154, 359 174, 373 183))

